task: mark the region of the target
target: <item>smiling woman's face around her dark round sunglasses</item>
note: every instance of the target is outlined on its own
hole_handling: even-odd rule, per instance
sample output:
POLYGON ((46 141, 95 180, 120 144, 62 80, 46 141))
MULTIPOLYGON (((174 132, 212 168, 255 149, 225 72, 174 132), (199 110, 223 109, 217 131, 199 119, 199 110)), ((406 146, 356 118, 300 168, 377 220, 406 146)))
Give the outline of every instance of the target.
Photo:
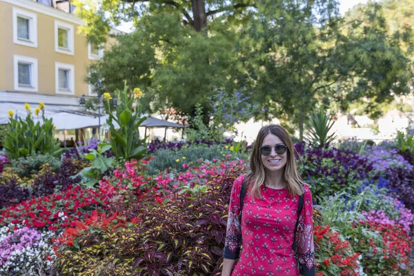
POLYGON ((286 148, 286 152, 284 152, 284 154, 282 155, 277 154, 275 146, 278 144, 284 145, 284 143, 279 137, 271 133, 266 135, 266 137, 264 137, 263 139, 262 146, 270 146, 270 148, 272 149, 270 155, 260 154, 262 157, 263 166, 270 171, 281 170, 282 168, 284 168, 288 161, 288 149, 286 148))

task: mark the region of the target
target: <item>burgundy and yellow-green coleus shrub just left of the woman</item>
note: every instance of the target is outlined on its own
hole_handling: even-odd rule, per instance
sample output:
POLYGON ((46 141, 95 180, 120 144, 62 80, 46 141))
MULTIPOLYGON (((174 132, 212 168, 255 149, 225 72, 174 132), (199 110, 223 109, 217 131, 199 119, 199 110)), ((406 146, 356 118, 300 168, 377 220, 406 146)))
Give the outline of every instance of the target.
POLYGON ((219 275, 228 200, 238 174, 218 175, 208 185, 208 193, 197 199, 183 193, 153 208, 136 202, 127 219, 139 223, 108 228, 98 238, 93 231, 83 233, 76 239, 79 250, 71 244, 59 248, 57 268, 63 275, 219 275), (64 269, 65 264, 71 266, 64 269))

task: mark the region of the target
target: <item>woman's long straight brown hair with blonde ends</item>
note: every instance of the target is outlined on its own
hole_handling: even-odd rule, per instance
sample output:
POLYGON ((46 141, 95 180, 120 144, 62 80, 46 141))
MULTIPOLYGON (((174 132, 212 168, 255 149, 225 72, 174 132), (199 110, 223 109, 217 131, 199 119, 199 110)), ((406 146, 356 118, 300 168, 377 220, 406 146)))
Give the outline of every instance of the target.
POLYGON ((252 153, 250 155, 250 170, 251 172, 246 175, 246 183, 248 183, 248 190, 252 197, 260 198, 260 187, 264 185, 264 180, 266 177, 266 172, 264 170, 264 165, 262 163, 262 156, 260 153, 260 147, 262 146, 264 137, 269 134, 273 134, 288 147, 286 150, 286 155, 288 155, 288 160, 284 166, 284 179, 287 182, 286 189, 290 196, 302 195, 304 193, 303 186, 304 181, 300 177, 299 172, 297 172, 296 162, 295 162, 295 146, 293 146, 293 141, 290 138, 290 135, 282 126, 276 124, 270 124, 264 126, 259 130, 255 145, 253 146, 252 153))

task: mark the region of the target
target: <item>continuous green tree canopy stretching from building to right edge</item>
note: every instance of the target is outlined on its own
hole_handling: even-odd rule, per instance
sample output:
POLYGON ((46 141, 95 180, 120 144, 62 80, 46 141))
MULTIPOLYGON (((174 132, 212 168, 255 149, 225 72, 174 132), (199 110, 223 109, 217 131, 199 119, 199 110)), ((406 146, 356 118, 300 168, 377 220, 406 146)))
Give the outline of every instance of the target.
POLYGON ((266 112, 303 130, 315 106, 368 101, 368 111, 409 92, 411 29, 391 31, 369 3, 343 18, 335 0, 83 0, 83 32, 101 42, 110 26, 133 21, 88 81, 99 90, 124 85, 146 92, 150 112, 172 107, 205 114, 218 90, 241 92, 266 112), (92 4, 92 3, 95 3, 92 4))

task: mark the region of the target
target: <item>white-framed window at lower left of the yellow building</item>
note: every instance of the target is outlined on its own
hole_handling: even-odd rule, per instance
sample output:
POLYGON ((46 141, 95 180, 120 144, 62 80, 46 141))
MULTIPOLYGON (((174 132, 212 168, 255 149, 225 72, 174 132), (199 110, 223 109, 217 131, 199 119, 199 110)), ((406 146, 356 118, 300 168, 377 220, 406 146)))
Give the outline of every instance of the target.
POLYGON ((14 90, 37 92, 37 59, 14 55, 14 90))

